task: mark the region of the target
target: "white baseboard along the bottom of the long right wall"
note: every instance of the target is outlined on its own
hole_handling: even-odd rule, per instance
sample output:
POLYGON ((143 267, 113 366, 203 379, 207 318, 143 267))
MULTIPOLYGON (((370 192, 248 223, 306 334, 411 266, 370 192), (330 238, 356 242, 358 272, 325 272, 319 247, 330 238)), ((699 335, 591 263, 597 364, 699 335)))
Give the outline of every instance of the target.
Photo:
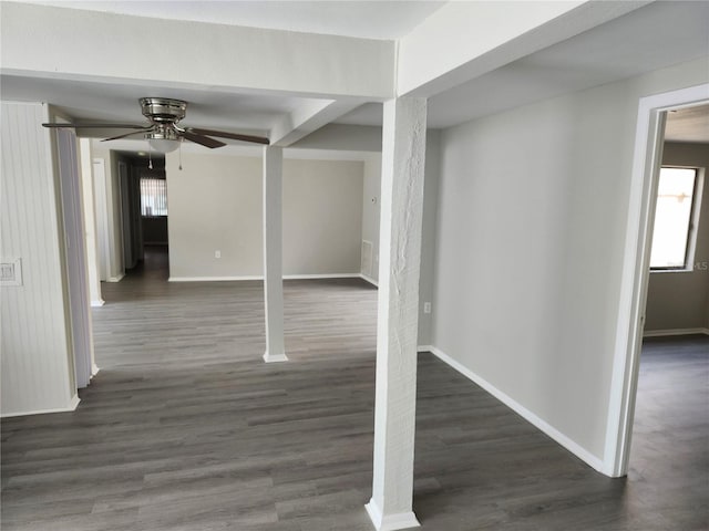
POLYGON ((524 407, 522 404, 516 402, 514 398, 510 397, 504 392, 500 391, 497 387, 492 385, 485 378, 475 374, 473 371, 465 367, 460 362, 453 360, 451 356, 442 352, 440 348, 436 348, 435 346, 427 346, 427 352, 431 352, 439 360, 449 364, 451 367, 453 367, 455 371, 461 373, 463 376, 465 376, 466 378, 471 379, 472 382, 481 386, 492 396, 494 396, 500 402, 502 402, 505 406, 514 410, 517 415, 520 415, 526 421, 528 421, 530 424, 532 424, 533 426, 542 430, 544 434, 548 435, 552 439, 554 439, 556 442, 562 445, 568 451, 574 454, 580 460, 585 461, 587 465, 589 465, 594 469, 600 471, 600 469, 603 468, 603 460, 600 458, 594 456, 590 451, 582 447, 578 442, 575 442, 574 440, 569 439, 567 436, 562 434, 558 429, 556 429, 555 427, 553 427, 552 425, 549 425, 548 423, 546 423, 545 420, 536 416, 534 413, 530 412, 526 407, 524 407))

